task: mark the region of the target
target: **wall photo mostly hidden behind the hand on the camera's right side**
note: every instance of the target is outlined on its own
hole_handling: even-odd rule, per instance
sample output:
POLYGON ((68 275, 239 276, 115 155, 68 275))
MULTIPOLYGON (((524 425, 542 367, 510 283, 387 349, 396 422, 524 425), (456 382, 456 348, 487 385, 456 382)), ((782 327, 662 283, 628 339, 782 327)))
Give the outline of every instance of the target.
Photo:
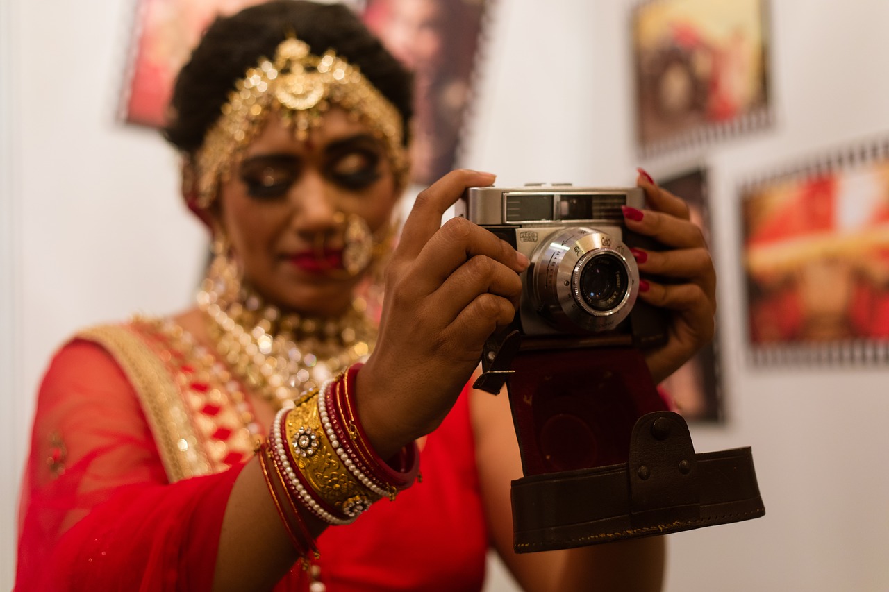
MULTIPOLYGON (((692 221, 701 228, 710 243, 710 209, 707 172, 694 167, 665 179, 658 185, 682 197, 688 204, 692 221)), ((685 420, 721 421, 724 419, 722 383, 719 372, 719 335, 679 370, 663 382, 661 388, 673 399, 685 420)))

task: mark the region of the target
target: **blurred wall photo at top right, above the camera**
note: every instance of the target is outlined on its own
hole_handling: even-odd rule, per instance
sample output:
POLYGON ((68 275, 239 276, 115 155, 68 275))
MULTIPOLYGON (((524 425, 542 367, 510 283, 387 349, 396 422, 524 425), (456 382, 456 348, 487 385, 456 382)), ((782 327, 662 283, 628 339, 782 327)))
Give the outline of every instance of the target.
POLYGON ((632 12, 639 152, 656 156, 771 121, 766 0, 647 0, 632 12))

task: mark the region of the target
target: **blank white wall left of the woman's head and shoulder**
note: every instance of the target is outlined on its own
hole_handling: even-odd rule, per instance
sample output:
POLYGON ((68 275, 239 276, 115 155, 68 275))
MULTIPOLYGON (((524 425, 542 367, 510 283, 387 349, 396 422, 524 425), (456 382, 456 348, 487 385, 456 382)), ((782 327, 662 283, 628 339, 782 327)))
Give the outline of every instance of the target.
POLYGON ((0 253, 10 253, 0 259, 0 368, 9 371, 0 418, 14 422, 0 430, 3 589, 12 588, 34 395, 52 351, 84 324, 185 308, 203 262, 203 231, 177 198, 172 151, 156 132, 116 123, 135 4, 0 1, 0 104, 10 109, 10 154, 0 160, 0 253))

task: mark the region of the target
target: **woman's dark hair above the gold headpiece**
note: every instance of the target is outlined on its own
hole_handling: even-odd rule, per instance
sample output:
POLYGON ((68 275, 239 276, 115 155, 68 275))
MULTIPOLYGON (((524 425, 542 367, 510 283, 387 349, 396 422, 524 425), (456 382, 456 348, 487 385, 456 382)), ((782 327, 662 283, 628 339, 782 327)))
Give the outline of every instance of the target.
POLYGON ((261 57, 273 58, 278 44, 292 35, 316 55, 332 49, 361 68, 398 109, 407 144, 413 112, 411 74, 348 7, 302 0, 274 0, 213 21, 176 78, 164 138, 188 154, 201 148, 236 81, 261 57))

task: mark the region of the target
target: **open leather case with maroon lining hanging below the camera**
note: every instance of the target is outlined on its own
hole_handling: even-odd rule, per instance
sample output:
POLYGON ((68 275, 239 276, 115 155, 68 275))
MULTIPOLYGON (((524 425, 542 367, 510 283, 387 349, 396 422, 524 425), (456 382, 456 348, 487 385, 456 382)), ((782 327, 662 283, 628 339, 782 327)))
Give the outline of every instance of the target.
POLYGON ((523 344, 511 370, 525 473, 512 483, 517 553, 765 514, 750 449, 696 454, 685 420, 666 411, 637 348, 523 344))

